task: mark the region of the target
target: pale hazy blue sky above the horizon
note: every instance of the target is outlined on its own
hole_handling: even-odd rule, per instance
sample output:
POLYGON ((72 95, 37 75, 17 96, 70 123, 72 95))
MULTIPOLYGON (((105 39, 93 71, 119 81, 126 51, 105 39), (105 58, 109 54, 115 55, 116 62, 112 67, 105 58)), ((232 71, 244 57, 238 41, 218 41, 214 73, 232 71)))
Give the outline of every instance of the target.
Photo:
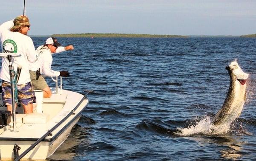
MULTIPOLYGON (((0 23, 23 14, 1 0, 0 23)), ((26 0, 29 35, 125 33, 256 34, 256 0, 26 0)))

